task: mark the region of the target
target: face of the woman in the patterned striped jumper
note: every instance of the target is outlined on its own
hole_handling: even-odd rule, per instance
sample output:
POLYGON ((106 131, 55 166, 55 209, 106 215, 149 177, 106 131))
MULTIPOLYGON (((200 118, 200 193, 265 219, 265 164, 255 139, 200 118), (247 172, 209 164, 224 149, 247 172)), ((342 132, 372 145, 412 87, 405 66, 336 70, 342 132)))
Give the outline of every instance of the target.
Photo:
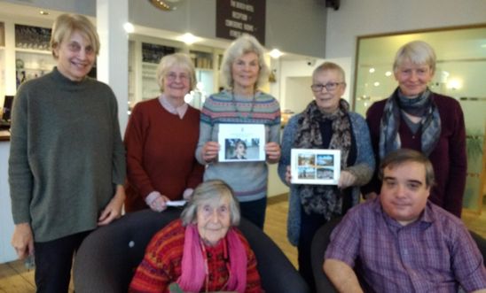
POLYGON ((231 65, 233 88, 254 89, 259 73, 260 65, 258 63, 258 55, 254 52, 249 52, 236 58, 231 65))

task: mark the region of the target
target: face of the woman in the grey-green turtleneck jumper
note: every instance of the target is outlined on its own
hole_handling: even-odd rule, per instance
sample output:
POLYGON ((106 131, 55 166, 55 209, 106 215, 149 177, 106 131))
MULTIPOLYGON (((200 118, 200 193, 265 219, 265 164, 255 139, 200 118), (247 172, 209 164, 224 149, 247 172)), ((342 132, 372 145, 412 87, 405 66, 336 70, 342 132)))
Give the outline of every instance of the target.
POLYGON ((78 31, 62 40, 53 50, 59 73, 71 81, 82 81, 95 63, 96 52, 92 44, 78 31))

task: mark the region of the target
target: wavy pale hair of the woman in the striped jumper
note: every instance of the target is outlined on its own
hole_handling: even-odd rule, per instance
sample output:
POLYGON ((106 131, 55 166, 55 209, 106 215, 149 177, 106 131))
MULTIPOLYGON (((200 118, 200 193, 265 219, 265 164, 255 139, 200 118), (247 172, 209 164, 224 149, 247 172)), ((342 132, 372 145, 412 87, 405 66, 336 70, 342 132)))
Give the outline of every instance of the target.
POLYGON ((221 64, 221 76, 223 83, 228 88, 233 88, 234 81, 231 68, 234 61, 247 53, 255 53, 258 57, 260 71, 258 72, 258 80, 256 81, 255 88, 263 86, 263 84, 268 81, 270 68, 265 63, 265 49, 260 42, 256 40, 255 36, 243 34, 239 36, 238 39, 231 42, 230 47, 224 51, 221 64))

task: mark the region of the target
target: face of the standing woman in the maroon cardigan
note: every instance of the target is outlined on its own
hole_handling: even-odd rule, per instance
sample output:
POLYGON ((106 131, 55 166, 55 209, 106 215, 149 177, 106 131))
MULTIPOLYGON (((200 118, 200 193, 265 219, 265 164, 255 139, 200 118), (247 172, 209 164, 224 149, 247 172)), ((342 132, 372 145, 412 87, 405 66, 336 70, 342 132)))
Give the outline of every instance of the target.
POLYGON ((418 96, 427 89, 433 77, 434 72, 430 66, 416 65, 410 61, 405 61, 395 71, 395 79, 404 96, 418 96))

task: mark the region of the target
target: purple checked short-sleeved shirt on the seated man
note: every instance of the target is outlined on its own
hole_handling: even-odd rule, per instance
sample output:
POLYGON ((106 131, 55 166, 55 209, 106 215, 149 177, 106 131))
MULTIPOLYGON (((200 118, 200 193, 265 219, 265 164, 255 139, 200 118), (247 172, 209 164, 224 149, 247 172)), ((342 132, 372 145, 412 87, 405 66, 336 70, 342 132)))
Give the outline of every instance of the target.
POLYGON ((401 226, 379 197, 349 210, 334 228, 325 258, 354 267, 377 292, 467 292, 486 288, 482 255, 464 224, 430 202, 419 220, 401 226))

